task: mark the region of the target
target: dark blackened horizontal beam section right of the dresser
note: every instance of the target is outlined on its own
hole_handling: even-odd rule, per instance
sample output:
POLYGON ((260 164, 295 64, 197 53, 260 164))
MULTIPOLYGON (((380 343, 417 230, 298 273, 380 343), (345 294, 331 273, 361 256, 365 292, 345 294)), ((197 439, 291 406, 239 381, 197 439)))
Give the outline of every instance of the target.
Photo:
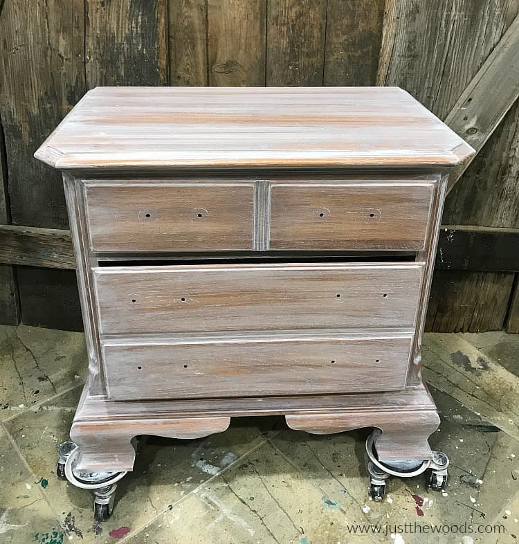
POLYGON ((519 228, 441 226, 435 266, 440 270, 519 271, 519 228))

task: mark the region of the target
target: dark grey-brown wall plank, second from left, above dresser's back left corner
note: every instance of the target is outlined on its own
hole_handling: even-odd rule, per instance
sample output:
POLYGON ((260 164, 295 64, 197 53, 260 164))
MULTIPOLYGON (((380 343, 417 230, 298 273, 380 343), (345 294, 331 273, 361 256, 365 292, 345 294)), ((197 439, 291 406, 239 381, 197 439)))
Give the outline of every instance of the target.
POLYGON ((86 86, 167 84, 165 0, 86 0, 86 86))

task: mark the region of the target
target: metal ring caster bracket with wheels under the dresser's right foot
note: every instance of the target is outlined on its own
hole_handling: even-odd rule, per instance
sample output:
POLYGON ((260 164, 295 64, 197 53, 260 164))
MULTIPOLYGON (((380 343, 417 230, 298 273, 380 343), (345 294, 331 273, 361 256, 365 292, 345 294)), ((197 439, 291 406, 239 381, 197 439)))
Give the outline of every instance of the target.
POLYGON ((366 439, 366 453, 369 459, 367 471, 370 474, 370 497, 372 500, 383 500, 386 480, 390 476, 413 478, 414 476, 425 473, 426 484, 430 489, 434 489, 435 491, 444 489, 448 479, 447 468, 449 464, 445 453, 433 451, 432 459, 422 461, 418 466, 412 466, 405 470, 397 466, 389 466, 379 461, 379 457, 376 455, 375 443, 379 434, 380 431, 374 431, 366 439))

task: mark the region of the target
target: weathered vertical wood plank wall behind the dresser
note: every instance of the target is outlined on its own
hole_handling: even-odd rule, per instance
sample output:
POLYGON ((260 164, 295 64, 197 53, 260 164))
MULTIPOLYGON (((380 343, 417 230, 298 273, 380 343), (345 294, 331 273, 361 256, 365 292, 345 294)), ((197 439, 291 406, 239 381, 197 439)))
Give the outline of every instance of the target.
MULTIPOLYGON (((86 90, 399 85, 446 118, 519 12, 519 0, 0 0, 0 6, 0 189, 8 189, 0 190, 0 203, 7 203, 0 224, 61 233, 53 259, 52 248, 38 253, 39 230, 27 234, 39 244, 33 253, 23 232, 6 230, 10 246, 0 262, 25 262, 6 257, 25 247, 29 260, 34 256, 29 264, 47 267, 0 265, 0 320, 17 320, 19 292, 24 322, 64 328, 81 326, 60 230, 68 228, 64 197, 60 177, 33 152, 86 90)), ((519 228, 518 174, 516 105, 449 194, 444 224, 519 228)), ((500 329, 507 312, 509 329, 517 329, 519 296, 510 306, 515 274, 438 269, 428 329, 500 329)))

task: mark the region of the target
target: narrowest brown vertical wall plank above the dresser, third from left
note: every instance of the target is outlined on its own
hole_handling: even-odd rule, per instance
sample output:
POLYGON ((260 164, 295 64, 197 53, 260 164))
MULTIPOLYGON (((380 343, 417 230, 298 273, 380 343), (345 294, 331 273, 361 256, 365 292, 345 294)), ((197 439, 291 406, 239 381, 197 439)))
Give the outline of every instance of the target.
POLYGON ((207 0, 169 0, 170 84, 208 84, 207 0))

